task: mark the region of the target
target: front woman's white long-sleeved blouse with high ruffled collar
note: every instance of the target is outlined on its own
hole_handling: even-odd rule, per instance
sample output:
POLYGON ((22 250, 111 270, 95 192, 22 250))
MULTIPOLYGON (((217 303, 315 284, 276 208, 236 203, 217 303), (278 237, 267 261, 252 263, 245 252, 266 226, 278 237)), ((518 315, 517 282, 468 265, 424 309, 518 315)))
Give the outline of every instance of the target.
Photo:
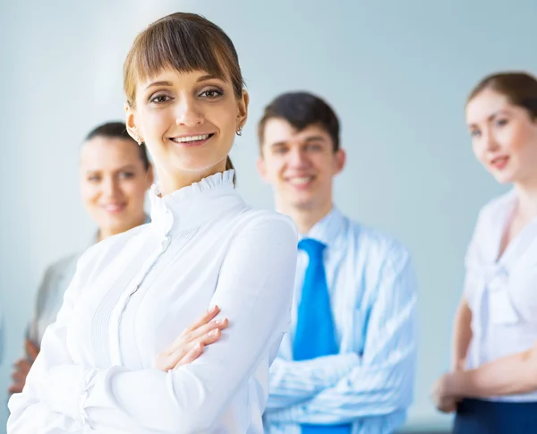
POLYGON ((268 368, 289 328, 297 231, 254 210, 233 171, 159 198, 148 225, 81 257, 21 394, 15 433, 263 432, 268 368), (167 373, 158 353, 217 304, 229 328, 167 373))

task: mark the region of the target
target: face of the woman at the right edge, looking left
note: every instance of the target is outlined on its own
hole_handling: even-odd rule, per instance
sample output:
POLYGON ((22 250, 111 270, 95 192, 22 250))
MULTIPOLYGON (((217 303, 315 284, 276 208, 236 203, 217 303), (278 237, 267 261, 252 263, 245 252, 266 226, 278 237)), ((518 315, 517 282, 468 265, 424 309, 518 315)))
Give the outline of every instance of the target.
POLYGON ((537 121, 507 97, 485 89, 466 106, 473 153, 499 183, 536 177, 537 121))

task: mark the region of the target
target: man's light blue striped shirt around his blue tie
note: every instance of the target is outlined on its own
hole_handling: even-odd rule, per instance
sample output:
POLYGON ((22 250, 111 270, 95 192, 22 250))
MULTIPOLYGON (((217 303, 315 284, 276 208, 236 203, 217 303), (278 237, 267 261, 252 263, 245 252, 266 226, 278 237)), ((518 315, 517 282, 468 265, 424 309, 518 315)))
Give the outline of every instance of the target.
POLYGON ((270 369, 268 434, 301 423, 353 423, 353 434, 400 428, 413 400, 416 280, 410 256, 386 234, 334 208, 307 237, 327 244, 325 267, 340 354, 293 362, 296 311, 307 255, 298 258, 293 323, 270 369))

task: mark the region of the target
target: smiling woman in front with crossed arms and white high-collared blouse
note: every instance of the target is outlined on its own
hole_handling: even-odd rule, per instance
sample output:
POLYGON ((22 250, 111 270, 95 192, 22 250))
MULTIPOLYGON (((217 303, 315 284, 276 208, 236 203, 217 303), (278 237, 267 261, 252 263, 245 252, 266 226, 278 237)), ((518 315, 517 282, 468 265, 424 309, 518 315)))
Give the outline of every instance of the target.
POLYGON ((158 174, 151 223, 82 256, 8 432, 261 434, 297 233, 234 189, 227 155, 248 108, 236 51, 175 13, 136 38, 124 88, 127 130, 158 174))

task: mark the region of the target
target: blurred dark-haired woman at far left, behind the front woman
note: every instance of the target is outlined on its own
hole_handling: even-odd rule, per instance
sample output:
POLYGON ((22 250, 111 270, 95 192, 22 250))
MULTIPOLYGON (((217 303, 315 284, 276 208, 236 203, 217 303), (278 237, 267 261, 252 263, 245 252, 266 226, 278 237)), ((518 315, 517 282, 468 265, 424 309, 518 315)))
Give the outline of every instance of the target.
MULTIPOLYGON (((81 145, 79 167, 81 199, 98 228, 90 244, 149 221, 144 200, 153 182, 153 171, 145 146, 138 146, 123 122, 103 123, 87 135, 81 145)), ((47 268, 26 336, 25 357, 14 364, 10 394, 22 391, 41 339, 55 321, 82 252, 72 253, 47 268)))

